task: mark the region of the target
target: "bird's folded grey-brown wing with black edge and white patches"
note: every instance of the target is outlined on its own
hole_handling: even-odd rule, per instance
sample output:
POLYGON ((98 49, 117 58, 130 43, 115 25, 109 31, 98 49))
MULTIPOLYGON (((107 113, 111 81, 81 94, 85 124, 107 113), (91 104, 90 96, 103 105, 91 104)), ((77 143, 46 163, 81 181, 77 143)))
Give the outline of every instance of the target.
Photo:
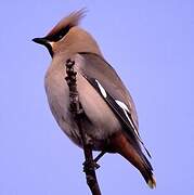
POLYGON ((100 55, 93 53, 79 53, 87 66, 81 69, 86 79, 106 101, 116 116, 124 125, 124 130, 134 142, 134 146, 142 144, 147 155, 139 131, 138 117, 131 95, 113 67, 100 55))

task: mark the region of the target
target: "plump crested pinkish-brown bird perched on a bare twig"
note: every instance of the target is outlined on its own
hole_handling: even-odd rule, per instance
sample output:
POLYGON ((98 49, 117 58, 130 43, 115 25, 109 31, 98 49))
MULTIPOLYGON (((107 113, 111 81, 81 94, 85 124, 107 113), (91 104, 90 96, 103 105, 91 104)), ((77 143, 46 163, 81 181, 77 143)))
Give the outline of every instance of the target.
POLYGON ((44 88, 52 115, 65 134, 79 147, 82 141, 69 105, 65 62, 73 60, 77 91, 83 109, 82 128, 92 151, 117 153, 132 164, 151 188, 156 186, 150 156, 140 133, 134 102, 116 70, 103 56, 96 40, 80 27, 86 10, 72 12, 44 37, 33 41, 44 46, 52 58, 44 88))

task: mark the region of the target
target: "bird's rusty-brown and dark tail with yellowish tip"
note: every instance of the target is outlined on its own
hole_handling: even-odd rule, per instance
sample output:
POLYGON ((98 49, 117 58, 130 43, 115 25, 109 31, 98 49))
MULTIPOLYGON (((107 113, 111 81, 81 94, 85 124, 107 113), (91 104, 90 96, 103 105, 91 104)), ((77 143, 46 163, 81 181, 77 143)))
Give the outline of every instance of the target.
POLYGON ((151 188, 156 187, 156 180, 153 174, 153 168, 140 146, 134 147, 130 139, 124 133, 119 133, 111 140, 114 150, 130 161, 143 176, 145 182, 151 188))

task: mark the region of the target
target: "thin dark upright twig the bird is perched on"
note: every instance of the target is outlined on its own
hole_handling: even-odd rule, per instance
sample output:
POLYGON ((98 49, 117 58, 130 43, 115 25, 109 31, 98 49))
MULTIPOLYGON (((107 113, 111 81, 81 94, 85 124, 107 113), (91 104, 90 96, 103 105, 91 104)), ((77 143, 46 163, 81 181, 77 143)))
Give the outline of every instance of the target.
POLYGON ((86 173, 87 183, 92 192, 92 195, 101 195, 98 179, 95 176, 96 164, 93 160, 92 143, 87 138, 87 134, 81 126, 82 123, 81 121, 83 119, 85 113, 79 102, 77 83, 76 83, 77 73, 74 70, 74 65, 75 65, 75 61, 72 61, 70 58, 66 61, 67 77, 65 79, 69 88, 70 112, 75 117, 82 140, 82 147, 86 159, 86 161, 83 162, 83 171, 86 173))

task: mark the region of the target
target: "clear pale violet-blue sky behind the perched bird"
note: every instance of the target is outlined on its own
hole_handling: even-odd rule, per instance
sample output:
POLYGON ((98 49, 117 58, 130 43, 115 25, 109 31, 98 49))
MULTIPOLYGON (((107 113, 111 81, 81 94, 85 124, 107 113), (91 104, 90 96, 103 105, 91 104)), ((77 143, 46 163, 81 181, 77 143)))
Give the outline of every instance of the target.
POLYGON ((98 170, 103 195, 194 192, 194 1, 4 0, 0 5, 0 195, 90 194, 83 154, 54 121, 43 88, 51 57, 31 42, 86 6, 81 26, 130 90, 157 187, 119 155, 98 170))

